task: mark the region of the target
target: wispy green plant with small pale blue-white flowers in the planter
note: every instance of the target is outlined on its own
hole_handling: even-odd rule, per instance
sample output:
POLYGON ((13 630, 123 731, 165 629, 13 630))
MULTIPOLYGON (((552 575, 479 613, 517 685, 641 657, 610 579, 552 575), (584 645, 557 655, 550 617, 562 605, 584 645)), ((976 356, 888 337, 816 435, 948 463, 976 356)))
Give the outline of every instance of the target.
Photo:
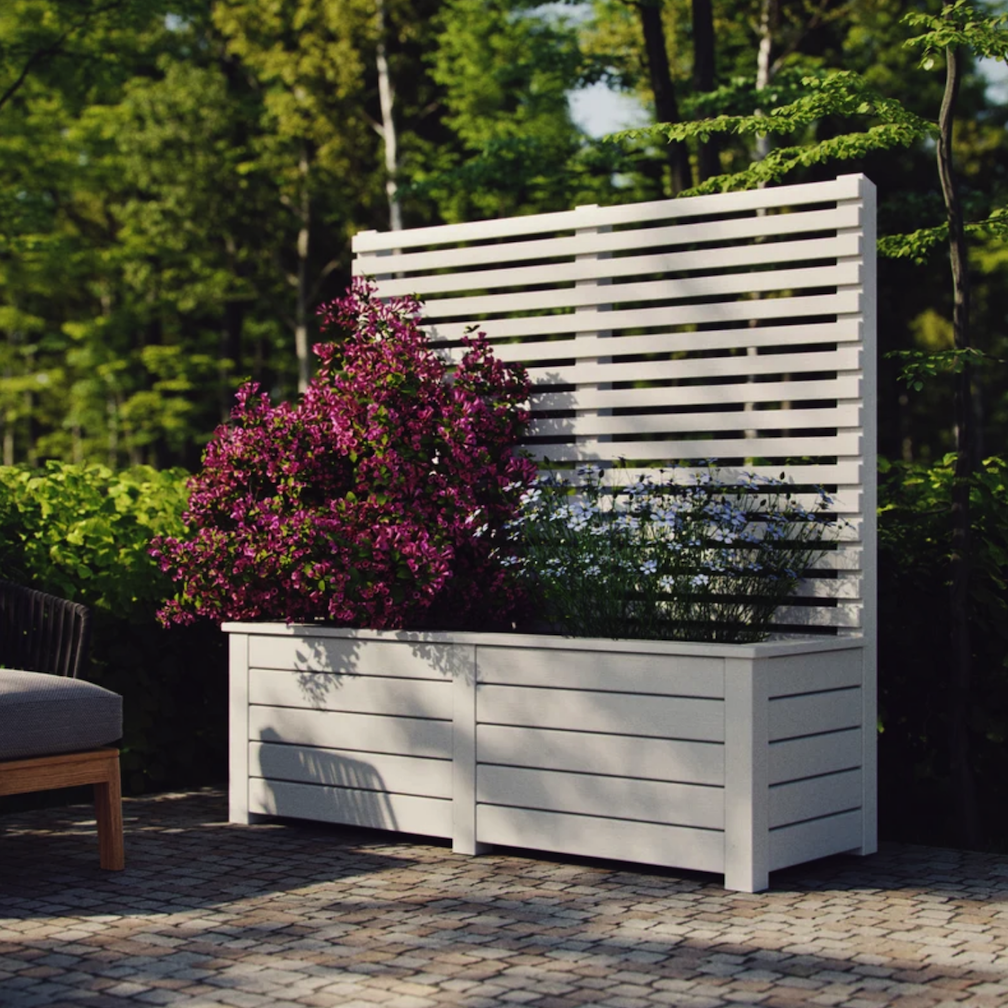
POLYGON ((605 486, 595 466, 578 475, 572 485, 547 472, 525 492, 510 526, 520 551, 508 557, 576 637, 763 640, 829 548, 822 490, 808 510, 782 479, 723 483, 713 466, 623 487, 605 486))

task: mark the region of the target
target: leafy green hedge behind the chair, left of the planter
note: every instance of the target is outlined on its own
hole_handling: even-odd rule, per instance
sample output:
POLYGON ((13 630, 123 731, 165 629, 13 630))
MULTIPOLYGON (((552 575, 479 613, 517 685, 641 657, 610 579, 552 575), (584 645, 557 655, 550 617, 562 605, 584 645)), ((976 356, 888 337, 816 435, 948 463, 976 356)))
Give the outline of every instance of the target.
POLYGON ((154 619, 172 586, 147 547, 181 531, 185 479, 148 467, 0 467, 0 576, 92 608, 88 677, 123 696, 131 793, 227 775, 223 635, 154 619))

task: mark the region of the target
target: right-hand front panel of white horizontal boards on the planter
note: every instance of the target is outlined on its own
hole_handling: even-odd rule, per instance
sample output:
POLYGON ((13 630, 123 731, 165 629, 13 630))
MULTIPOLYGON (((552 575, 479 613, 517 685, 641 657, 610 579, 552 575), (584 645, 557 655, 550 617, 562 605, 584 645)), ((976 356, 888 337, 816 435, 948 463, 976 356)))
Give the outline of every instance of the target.
POLYGON ((723 871, 723 659, 476 660, 480 842, 723 871))

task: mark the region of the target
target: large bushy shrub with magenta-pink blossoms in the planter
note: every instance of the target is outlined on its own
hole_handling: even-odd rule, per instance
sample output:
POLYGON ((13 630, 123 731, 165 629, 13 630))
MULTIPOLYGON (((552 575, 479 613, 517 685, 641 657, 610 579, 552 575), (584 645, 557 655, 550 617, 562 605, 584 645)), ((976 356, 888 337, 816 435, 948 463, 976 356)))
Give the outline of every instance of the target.
POLYGON ((514 453, 524 373, 483 334, 451 371, 413 298, 356 280, 320 309, 318 376, 296 404, 243 386, 190 482, 187 531, 151 552, 178 583, 165 625, 324 619, 503 625, 521 603, 504 526, 535 467, 514 453))

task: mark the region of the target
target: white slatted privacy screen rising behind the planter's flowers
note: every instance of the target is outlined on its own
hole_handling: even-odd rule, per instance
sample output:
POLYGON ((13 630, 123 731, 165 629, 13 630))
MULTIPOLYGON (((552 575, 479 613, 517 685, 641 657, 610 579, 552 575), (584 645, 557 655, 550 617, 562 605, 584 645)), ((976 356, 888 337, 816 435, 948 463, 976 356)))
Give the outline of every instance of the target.
POLYGON ((875 188, 863 175, 366 232, 354 252, 355 275, 383 296, 424 302, 424 329, 450 353, 475 324, 528 368, 536 459, 624 460, 631 477, 716 459, 835 492, 843 545, 780 622, 873 632, 875 188))

